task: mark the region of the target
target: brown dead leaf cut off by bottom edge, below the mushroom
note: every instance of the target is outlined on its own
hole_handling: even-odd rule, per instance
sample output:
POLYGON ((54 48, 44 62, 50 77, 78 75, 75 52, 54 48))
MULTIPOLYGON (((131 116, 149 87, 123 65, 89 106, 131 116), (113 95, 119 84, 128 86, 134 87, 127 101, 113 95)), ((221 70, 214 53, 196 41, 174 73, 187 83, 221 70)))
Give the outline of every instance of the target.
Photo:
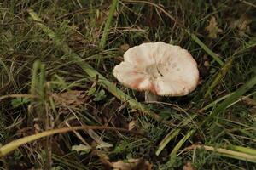
POLYGON ((152 165, 143 159, 130 159, 125 161, 112 162, 114 170, 151 170, 152 165))

